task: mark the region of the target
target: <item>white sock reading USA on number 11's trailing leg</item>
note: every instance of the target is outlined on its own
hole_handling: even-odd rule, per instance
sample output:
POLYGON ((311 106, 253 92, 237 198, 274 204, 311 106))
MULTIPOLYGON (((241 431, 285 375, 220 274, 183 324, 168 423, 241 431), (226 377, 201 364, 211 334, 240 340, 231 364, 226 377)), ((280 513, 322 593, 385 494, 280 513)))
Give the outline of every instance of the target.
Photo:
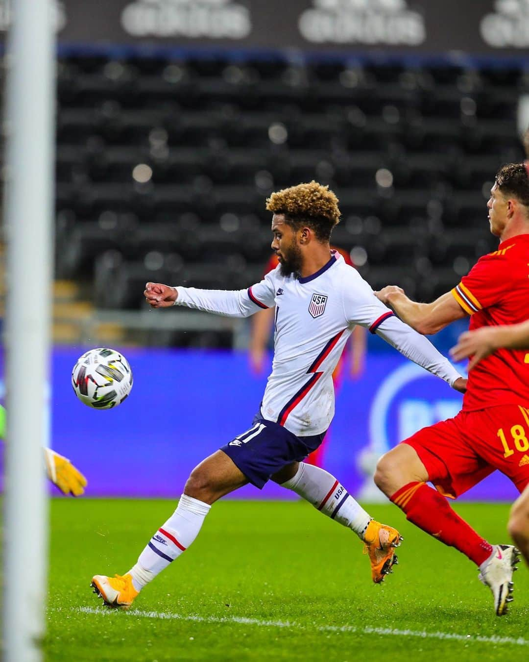
POLYGON ((323 514, 352 529, 364 540, 372 517, 346 491, 345 487, 325 469, 300 462, 294 477, 281 487, 303 496, 323 514))

